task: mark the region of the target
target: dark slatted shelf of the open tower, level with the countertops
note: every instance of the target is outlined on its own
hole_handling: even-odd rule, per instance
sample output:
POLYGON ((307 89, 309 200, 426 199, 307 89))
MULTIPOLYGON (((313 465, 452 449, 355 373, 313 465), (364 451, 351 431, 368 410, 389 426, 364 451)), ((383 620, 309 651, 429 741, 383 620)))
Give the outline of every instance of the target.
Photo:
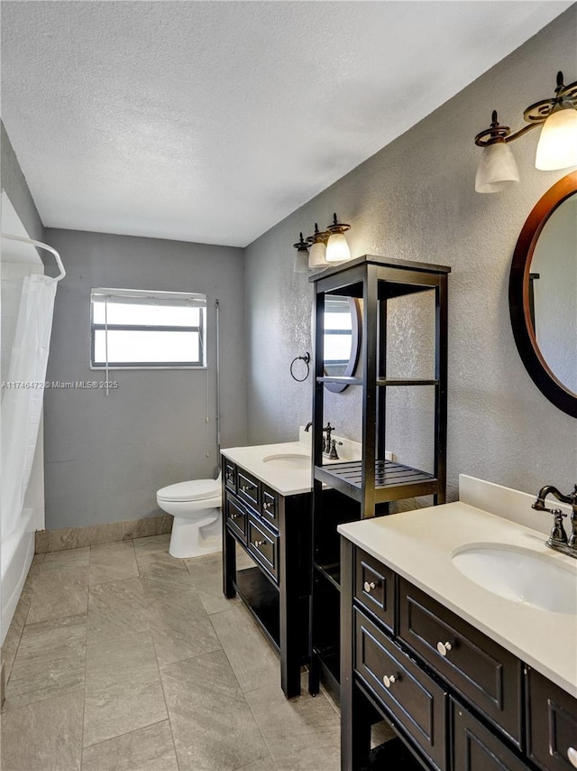
MULTIPOLYGON (((330 466, 316 466, 315 478, 354 500, 362 501, 362 460, 343 460, 330 466)), ((433 495, 437 490, 438 480, 434 474, 392 460, 375 462, 375 503, 433 495)))

